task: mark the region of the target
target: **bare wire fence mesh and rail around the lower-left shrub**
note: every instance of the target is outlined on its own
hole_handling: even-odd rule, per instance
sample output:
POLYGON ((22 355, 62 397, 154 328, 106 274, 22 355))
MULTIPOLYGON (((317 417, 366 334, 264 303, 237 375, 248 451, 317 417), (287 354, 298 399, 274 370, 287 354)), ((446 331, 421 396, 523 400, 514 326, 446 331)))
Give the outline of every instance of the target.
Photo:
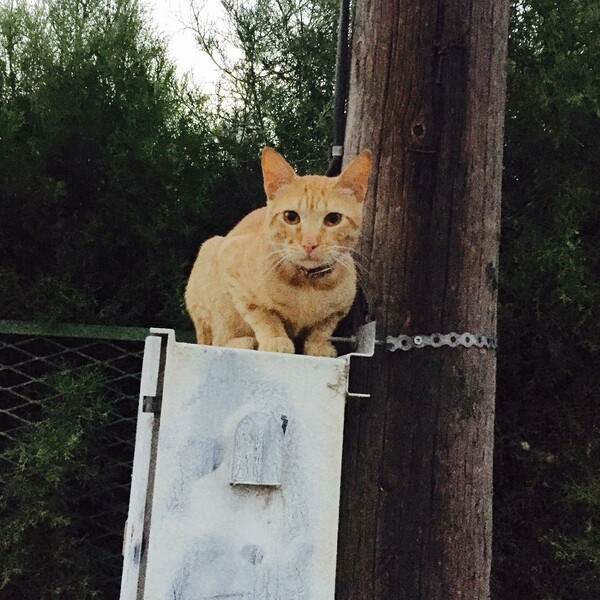
MULTIPOLYGON (((122 535, 129 502, 135 418, 146 329, 42 327, 0 321, 0 486, 15 476, 13 448, 45 418, 61 394, 57 375, 100 374, 102 435, 93 462, 102 465, 104 489, 84 485, 70 498, 70 531, 93 548, 103 574, 101 598, 118 597, 122 535), (107 482, 107 483, 106 483, 107 482), (74 507, 74 508, 73 508, 74 507), (73 512, 75 511, 75 512, 73 512)), ((10 510, 10 507, 7 508, 10 510)), ((43 543, 43 540, 40 540, 43 543)), ((17 549, 14 549, 17 552, 17 549)), ((0 598, 29 598, 26 576, 15 577, 0 598), (8 590, 8 591, 7 591, 8 590), (11 591, 12 590, 12 591, 11 591)), ((54 597, 48 595, 48 597, 54 597)), ((57 597, 61 597, 57 592, 57 597)), ((66 594, 63 595, 66 597, 66 594)), ((92 597, 92 595, 90 595, 92 597)))

